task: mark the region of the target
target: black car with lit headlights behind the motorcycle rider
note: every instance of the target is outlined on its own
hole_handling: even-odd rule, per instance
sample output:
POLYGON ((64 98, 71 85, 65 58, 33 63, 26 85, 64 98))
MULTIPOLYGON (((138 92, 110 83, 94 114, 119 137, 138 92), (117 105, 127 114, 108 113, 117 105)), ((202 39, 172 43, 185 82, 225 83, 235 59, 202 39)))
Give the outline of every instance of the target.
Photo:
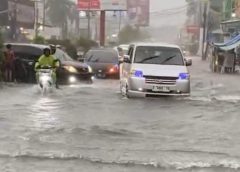
MULTIPOLYGON (((43 54, 43 49, 48 46, 20 43, 11 43, 11 45, 16 56, 15 77, 17 80, 20 82, 36 82, 34 66, 43 54)), ((92 82, 93 73, 90 66, 73 60, 61 49, 57 49, 54 56, 60 61, 60 68, 57 70, 59 83, 68 84, 80 80, 92 82)))

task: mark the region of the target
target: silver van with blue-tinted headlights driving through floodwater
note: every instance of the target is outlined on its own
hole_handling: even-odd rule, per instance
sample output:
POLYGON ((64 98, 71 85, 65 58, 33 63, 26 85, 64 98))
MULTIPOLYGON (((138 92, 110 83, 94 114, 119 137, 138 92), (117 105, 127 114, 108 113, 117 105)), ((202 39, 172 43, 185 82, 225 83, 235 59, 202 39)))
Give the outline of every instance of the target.
POLYGON ((190 74, 181 49, 169 44, 137 43, 124 56, 121 93, 128 97, 190 95, 190 74))

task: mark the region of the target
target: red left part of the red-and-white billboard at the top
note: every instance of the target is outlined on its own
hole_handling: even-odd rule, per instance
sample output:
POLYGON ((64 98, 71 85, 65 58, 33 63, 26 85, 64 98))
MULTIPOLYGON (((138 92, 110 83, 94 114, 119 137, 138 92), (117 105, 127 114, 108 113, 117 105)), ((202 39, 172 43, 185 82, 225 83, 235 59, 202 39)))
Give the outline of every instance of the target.
POLYGON ((100 0, 78 0, 78 10, 100 10, 100 0))

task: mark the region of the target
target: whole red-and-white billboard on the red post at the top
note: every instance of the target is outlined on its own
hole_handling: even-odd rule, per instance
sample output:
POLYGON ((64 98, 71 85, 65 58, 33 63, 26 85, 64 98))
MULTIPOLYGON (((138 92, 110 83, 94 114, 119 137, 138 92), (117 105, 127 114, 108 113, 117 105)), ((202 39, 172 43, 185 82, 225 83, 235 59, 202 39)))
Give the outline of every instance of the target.
POLYGON ((127 0, 78 0, 78 10, 126 11, 127 0))

